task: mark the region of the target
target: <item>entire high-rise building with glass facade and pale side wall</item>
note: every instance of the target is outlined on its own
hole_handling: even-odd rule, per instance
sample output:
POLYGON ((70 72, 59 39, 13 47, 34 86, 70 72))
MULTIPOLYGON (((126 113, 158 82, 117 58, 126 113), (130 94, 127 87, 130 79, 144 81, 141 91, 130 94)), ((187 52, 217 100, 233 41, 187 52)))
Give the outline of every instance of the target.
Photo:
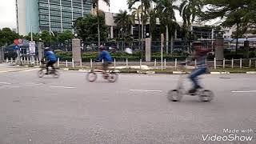
MULTIPOLYGON (((18 33, 73 30, 74 21, 90 14, 91 0, 16 0, 18 33)), ((73 30, 74 31, 74 30, 73 30)))

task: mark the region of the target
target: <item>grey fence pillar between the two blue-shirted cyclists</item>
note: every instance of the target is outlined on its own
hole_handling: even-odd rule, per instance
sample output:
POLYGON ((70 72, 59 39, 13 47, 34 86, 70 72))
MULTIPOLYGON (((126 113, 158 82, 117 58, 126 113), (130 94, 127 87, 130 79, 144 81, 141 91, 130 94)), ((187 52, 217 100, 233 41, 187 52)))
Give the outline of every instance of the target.
POLYGON ((80 62, 81 59, 81 41, 78 38, 72 39, 72 54, 74 62, 80 62))

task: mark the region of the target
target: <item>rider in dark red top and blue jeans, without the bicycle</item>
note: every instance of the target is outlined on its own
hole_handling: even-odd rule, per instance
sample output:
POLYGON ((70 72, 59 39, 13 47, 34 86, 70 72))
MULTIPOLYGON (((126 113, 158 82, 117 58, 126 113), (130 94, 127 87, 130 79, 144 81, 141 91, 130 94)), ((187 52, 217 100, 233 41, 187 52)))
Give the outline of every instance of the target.
POLYGON ((189 93, 195 93, 202 86, 198 84, 198 76, 206 73, 206 56, 211 51, 211 49, 202 49, 202 47, 195 47, 194 58, 197 61, 197 66, 194 71, 190 74, 189 78, 193 82, 193 88, 189 90, 189 93))

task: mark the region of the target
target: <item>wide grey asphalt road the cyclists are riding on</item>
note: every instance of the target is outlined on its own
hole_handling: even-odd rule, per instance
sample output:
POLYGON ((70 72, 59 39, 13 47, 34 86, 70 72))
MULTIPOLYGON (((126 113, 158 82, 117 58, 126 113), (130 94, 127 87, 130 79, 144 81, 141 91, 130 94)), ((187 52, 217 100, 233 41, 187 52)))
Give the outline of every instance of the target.
POLYGON ((212 102, 190 96, 169 102, 178 75, 121 74, 109 83, 100 75, 86 82, 78 71, 60 71, 58 79, 36 72, 0 70, 1 144, 256 143, 256 75, 204 75, 212 102), (223 129, 253 139, 203 141, 207 134, 228 136, 223 129))

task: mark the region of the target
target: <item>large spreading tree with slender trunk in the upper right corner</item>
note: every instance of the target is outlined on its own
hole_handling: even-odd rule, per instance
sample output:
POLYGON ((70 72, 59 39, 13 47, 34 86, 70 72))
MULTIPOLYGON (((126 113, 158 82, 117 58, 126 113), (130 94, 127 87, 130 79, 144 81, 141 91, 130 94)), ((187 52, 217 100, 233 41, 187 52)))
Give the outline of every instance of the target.
POLYGON ((238 38, 241 32, 254 23, 255 1, 251 0, 205 0, 203 3, 208 8, 202 11, 203 21, 222 18, 223 27, 236 26, 236 54, 238 51, 238 38))

